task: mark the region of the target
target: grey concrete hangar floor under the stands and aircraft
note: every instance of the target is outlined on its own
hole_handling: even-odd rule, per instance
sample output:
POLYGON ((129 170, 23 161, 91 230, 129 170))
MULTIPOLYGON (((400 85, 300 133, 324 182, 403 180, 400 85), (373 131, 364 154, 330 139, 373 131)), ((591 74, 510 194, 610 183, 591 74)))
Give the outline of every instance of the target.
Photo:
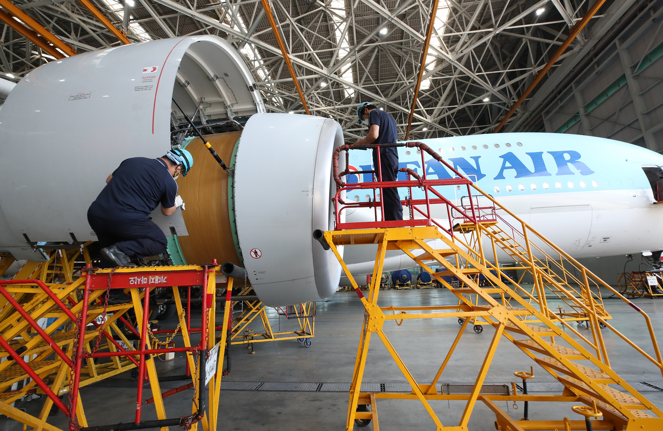
MULTIPOLYGON (((418 306, 433 304, 456 304, 455 296, 446 289, 389 290, 380 293, 381 306, 418 306)), ((648 353, 651 343, 646 334, 644 320, 621 300, 607 299, 606 308, 613 315, 613 326, 633 339, 648 353)), ((648 313, 655 328, 663 326, 663 300, 633 300, 648 313)), ((556 302, 551 300, 550 307, 556 302)), ((355 292, 339 292, 335 296, 316 304, 316 336, 307 348, 294 340, 256 343, 255 354, 249 354, 242 345, 232 347, 231 374, 224 381, 264 382, 314 382, 345 383, 351 381, 357 343, 363 318, 363 307, 355 292)), ((294 329, 292 322, 271 320, 274 330, 294 329)), ((198 316, 192 316, 192 322, 198 316)), ((220 316, 219 316, 220 318, 220 316)), ((164 328, 174 328, 173 320, 161 322, 164 328)), ((467 328, 440 383, 473 383, 493 336, 493 328, 483 326, 482 334, 467 328)), ((396 351, 412 371, 419 383, 427 383, 436 373, 453 338, 459 330, 455 319, 410 320, 396 326, 394 320, 385 323, 385 331, 396 351)), ((611 366, 628 382, 662 382, 663 377, 652 363, 624 341, 608 330, 603 330, 609 351, 611 366)), ((591 333, 587 331, 587 336, 591 333)), ((663 332, 659 332, 663 339, 663 332)), ((653 353, 652 353, 653 355, 653 353)), ((514 371, 529 371, 534 365, 536 377, 533 382, 555 381, 538 367, 518 348, 502 339, 486 379, 487 383, 516 381, 514 371)), ((177 375, 184 371, 184 359, 171 362, 157 361, 161 375, 177 375)), ((392 361, 379 338, 371 339, 371 349, 364 377, 365 382, 402 383, 404 377, 392 361)), ((518 383, 516 381, 516 383, 518 383)), ((162 391, 184 384, 168 382, 162 391)), ((128 373, 82 389, 84 406, 90 426, 129 422, 133 420, 135 405, 135 383, 128 373)), ((646 392, 648 399, 663 407, 663 392, 646 392)), ((144 397, 151 397, 149 387, 144 397)), ((168 417, 182 416, 190 408, 192 391, 184 391, 168 397, 168 417)), ((37 415, 42 401, 17 403, 30 414, 37 415)), ((402 429, 434 430, 434 424, 424 408, 414 400, 379 400, 380 426, 384 431, 402 429)), ((457 425, 464 402, 432 402, 434 410, 446 426, 457 425)), ((513 418, 522 416, 522 402, 518 410, 512 403, 499 406, 513 418)), ((271 392, 271 391, 223 391, 219 407, 219 430, 343 430, 347 409, 347 393, 333 392, 271 392)), ((530 418, 561 420, 568 416, 580 420, 566 403, 530 403, 530 418)), ((154 408, 144 409, 144 419, 156 418, 154 408)), ((471 430, 494 430, 495 415, 483 403, 477 403, 469 422, 471 430)), ((49 423, 66 429, 64 415, 52 416, 49 423)), ((173 428, 174 429, 174 428, 173 428)), ((365 430, 371 430, 369 425, 365 430)), ((0 419, 0 431, 19 431, 21 424, 13 420, 0 419)))

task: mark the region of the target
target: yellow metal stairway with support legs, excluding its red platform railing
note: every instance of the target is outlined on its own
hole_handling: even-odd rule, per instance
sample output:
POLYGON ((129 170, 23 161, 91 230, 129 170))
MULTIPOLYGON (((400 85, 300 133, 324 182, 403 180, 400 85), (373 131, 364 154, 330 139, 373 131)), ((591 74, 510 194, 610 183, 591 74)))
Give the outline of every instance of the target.
MULTIPOLYGON (((484 227, 479 223, 479 229, 487 235, 493 234, 495 231, 493 226, 484 227)), ((635 391, 628 383, 623 381, 611 368, 605 345, 603 343, 603 336, 599 324, 605 325, 616 334, 619 334, 612 326, 610 326, 601 316, 603 314, 603 307, 597 307, 593 296, 589 293, 581 296, 579 300, 576 295, 568 290, 565 284, 557 280, 560 275, 552 275, 552 269, 549 267, 540 267, 535 262, 530 266, 530 270, 536 274, 537 278, 541 280, 540 286, 544 284, 551 284, 555 290, 559 290, 560 294, 566 297, 566 300, 573 302, 580 310, 583 310, 583 315, 586 314, 586 319, 589 320, 591 326, 592 339, 587 339, 585 336, 577 332, 568 322, 561 316, 556 314, 556 310, 550 310, 542 305, 536 296, 532 296, 527 290, 521 288, 517 284, 508 286, 500 278, 495 277, 489 270, 493 269, 479 263, 482 259, 477 259, 479 253, 468 252, 466 247, 461 245, 461 241, 452 241, 452 239, 442 235, 436 227, 396 227, 388 229, 361 229, 361 230, 347 230, 347 231, 328 231, 325 232, 325 237, 331 245, 332 250, 337 255, 341 262, 345 273, 350 277, 351 282, 355 286, 355 290, 361 297, 366 314, 363 326, 363 336, 359 345, 357 353, 357 361, 355 363, 355 373, 351 385, 350 402, 347 414, 347 430, 353 428, 355 419, 373 420, 373 429, 379 429, 377 421, 377 406, 375 399, 419 399, 424 404, 426 410, 432 417, 436 424, 437 430, 467 430, 467 423, 473 410, 473 406, 477 400, 485 402, 497 416, 497 424, 501 430, 554 430, 564 429, 564 417, 570 416, 569 410, 562 410, 560 412, 560 420, 558 421, 514 421, 503 412, 496 404, 495 401, 499 400, 530 400, 530 401, 562 401, 562 402, 580 402, 592 406, 593 402, 603 413, 603 420, 593 420, 593 429, 605 430, 662 430, 663 429, 663 412, 652 402, 643 397, 640 393, 635 391), (426 243, 429 239, 442 239, 448 245, 448 249, 431 249, 426 243), (385 251, 400 249, 406 254, 410 255, 414 261, 422 268, 426 269, 434 275, 442 284, 452 290, 461 300, 459 306, 426 306, 426 307, 379 307, 377 306, 377 299, 379 295, 379 286, 375 283, 371 284, 369 296, 366 298, 359 291, 355 280, 347 271, 347 267, 340 258, 337 246, 353 243, 357 244, 375 244, 379 245, 378 255, 376 259, 375 275, 373 280, 379 280, 382 272, 382 263, 385 257, 385 251), (414 255, 412 251, 424 251, 418 256, 414 255), (453 257, 450 261, 447 257, 453 257), (433 260, 438 265, 446 267, 463 281, 463 288, 453 288, 444 281, 444 278, 434 273, 429 265, 424 261, 433 260), (459 265, 458 263, 462 263, 459 265), (493 284, 490 288, 480 288, 478 284, 467 275, 467 270, 463 267, 469 265, 476 269, 479 273, 489 278, 493 284), (471 291, 483 300, 483 304, 476 304, 467 298, 466 294, 471 291), (491 294, 499 293, 505 300, 495 300, 491 294), (589 300, 591 298, 591 300, 589 300), (387 313, 387 314, 385 314, 387 313), (407 367, 404 365, 398 353, 394 350, 385 332, 383 332, 383 325, 385 319, 396 318, 392 316, 397 315, 398 321, 401 319, 422 319, 422 318, 461 318, 465 320, 459 334, 457 335, 452 349, 448 353, 442 366, 430 382, 421 384, 414 380, 407 367), (474 385, 472 392, 467 396, 462 395, 444 395, 438 393, 436 384, 444 371, 444 367, 450 360, 450 357, 455 349, 467 322, 470 319, 481 318, 491 324, 495 328, 495 336, 485 355, 483 365, 478 371, 477 381, 474 385), (538 325, 530 323, 530 320, 540 322, 538 325), (558 326, 562 324, 566 326, 566 331, 558 326), (394 361, 408 380, 408 383, 413 388, 411 395, 403 395, 402 393, 360 393, 361 379, 367 361, 367 353, 371 334, 375 332, 379 338, 385 343, 385 346, 391 353, 394 361), (574 334, 577 338, 581 339, 583 343, 579 343, 570 334, 574 334), (546 371, 552 374, 560 383, 564 384, 565 390, 563 395, 483 395, 481 389, 486 373, 491 365, 495 349, 502 337, 509 339, 512 343, 520 347, 522 351, 530 356, 536 363, 544 367, 546 371), (563 341, 562 344, 556 343, 555 339, 563 341), (569 345, 570 347, 566 347, 569 345), (626 391, 617 391, 608 386, 609 383, 617 383, 621 385, 626 391), (465 411, 458 426, 443 426, 440 419, 436 416, 430 405, 429 400, 446 400, 446 399, 467 399, 465 411), (357 406, 362 404, 370 404, 373 408, 370 412, 357 412, 357 406), (548 428, 542 426, 549 425, 548 428)), ((493 237, 493 236, 491 236, 493 237)), ((493 242, 497 244, 501 241, 493 242)), ((502 243, 504 244, 504 243, 502 243)), ((540 263, 540 261, 538 261, 540 263)), ((491 265, 492 266, 492 265, 491 265)), ((584 270, 584 269, 583 269, 584 270)), ((585 280, 585 290, 589 291, 589 279, 597 280, 592 277, 586 270, 583 271, 583 278, 585 280)), ((536 278, 535 278, 536 279, 536 278)), ((605 286, 609 288, 609 286, 605 286)), ((541 287, 539 287, 541 288, 541 287)), ((582 285, 581 285, 582 288, 582 285)), ((644 313, 643 313, 644 314, 644 313)), ((584 318, 584 316, 583 316, 584 318)), ((648 322, 648 320, 647 320, 648 322)), ((649 322, 648 322, 649 323, 649 322)), ((651 328, 650 328, 651 330, 651 328)), ((621 335, 621 334, 619 334, 621 335)), ((654 345, 656 341, 652 336, 654 345)), ((627 340, 635 347, 635 345, 627 340)), ((636 347, 637 348, 637 347, 636 347)), ((638 348, 638 350, 640 350, 638 348)), ((648 359, 661 367, 660 355, 658 355, 658 347, 656 352, 658 359, 653 359, 648 356, 644 351, 640 350, 648 359)), ((585 429, 584 421, 571 421, 570 429, 585 429), (576 423, 577 422, 577 423, 576 423)))

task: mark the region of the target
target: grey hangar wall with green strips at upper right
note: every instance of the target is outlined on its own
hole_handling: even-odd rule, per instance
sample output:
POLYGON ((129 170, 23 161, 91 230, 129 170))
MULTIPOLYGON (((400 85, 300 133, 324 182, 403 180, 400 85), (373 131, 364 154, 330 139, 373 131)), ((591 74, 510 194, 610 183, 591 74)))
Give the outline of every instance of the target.
POLYGON ((663 151, 663 1, 654 1, 543 113, 546 132, 663 151))

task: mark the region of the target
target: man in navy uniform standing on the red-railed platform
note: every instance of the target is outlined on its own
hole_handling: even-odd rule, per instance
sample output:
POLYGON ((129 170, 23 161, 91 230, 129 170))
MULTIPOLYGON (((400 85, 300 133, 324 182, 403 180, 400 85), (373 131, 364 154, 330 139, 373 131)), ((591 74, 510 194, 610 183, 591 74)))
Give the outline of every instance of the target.
MULTIPOLYGON (((385 111, 377 109, 373 103, 364 102, 357 107, 359 121, 368 121, 369 134, 355 145, 395 144, 396 143, 396 121, 394 117, 385 111)), ((377 151, 373 149, 373 166, 375 175, 380 181, 398 181, 398 151, 395 147, 380 149, 381 169, 378 169, 377 151), (382 178, 379 178, 379 173, 382 178)), ((385 204, 385 220, 402 220, 403 207, 400 204, 397 188, 383 188, 381 199, 385 204)))

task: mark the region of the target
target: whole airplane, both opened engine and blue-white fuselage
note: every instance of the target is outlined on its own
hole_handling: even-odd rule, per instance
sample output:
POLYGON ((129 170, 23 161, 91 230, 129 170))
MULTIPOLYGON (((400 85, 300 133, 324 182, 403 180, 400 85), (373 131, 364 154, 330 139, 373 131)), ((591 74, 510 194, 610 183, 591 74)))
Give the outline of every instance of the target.
MULTIPOLYGON (((313 232, 334 228, 331 158, 344 142, 341 126, 326 117, 267 113, 247 60, 226 40, 184 36, 86 52, 44 64, 7 87, 0 109, 0 253, 44 261, 44 243, 78 248, 95 241, 86 212, 109 172, 125 158, 154 158, 180 145, 186 113, 198 116, 205 133, 212 130, 206 139, 231 169, 222 170, 199 138, 186 141, 195 160, 178 178, 186 210, 152 213, 169 241, 178 241, 182 261, 241 265, 267 306, 337 290, 341 267, 313 232), (229 121, 241 130, 216 133, 229 121)), ((574 257, 663 250, 652 191, 662 176, 659 154, 547 133, 424 142, 574 257)), ((422 166, 413 149, 399 151, 406 166, 450 175, 434 162, 422 166)), ((350 163, 354 170, 369 165, 369 151, 352 151, 350 163)), ((347 219, 372 214, 356 210, 347 219)), ((342 253, 353 274, 371 273, 370 251, 342 253)), ((385 270, 408 267, 412 261, 390 254, 385 270)))

